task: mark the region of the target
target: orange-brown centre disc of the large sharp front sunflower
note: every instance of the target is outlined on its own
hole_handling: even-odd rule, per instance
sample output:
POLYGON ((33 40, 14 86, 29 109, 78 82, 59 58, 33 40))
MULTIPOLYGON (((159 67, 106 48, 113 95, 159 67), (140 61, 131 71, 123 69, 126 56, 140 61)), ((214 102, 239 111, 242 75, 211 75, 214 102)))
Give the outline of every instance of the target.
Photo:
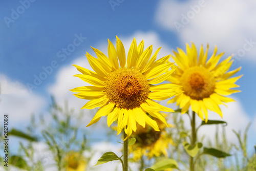
POLYGON ((146 78, 135 69, 120 68, 112 72, 105 83, 110 101, 127 110, 144 103, 149 90, 146 78))

